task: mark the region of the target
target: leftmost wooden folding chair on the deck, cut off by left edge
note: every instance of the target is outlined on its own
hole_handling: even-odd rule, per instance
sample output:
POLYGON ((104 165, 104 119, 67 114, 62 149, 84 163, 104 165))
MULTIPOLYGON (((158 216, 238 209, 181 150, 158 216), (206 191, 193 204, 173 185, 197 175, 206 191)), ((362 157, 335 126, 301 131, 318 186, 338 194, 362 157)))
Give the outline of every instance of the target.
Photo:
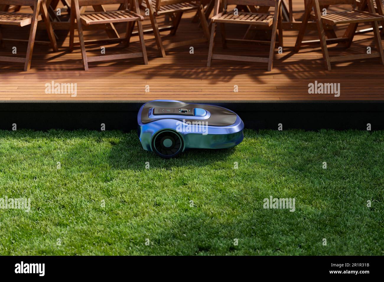
MULTIPOLYGON (((31 59, 33 53, 33 45, 35 43, 37 22, 43 18, 45 22, 46 30, 48 31, 48 37, 51 41, 53 51, 58 51, 55 35, 48 16, 48 10, 46 7, 46 0, 0 0, 0 4, 4 5, 17 5, 17 6, 30 6, 33 9, 33 13, 15 13, 15 12, 0 12, 0 24, 1 25, 16 25, 26 26, 31 25, 29 33, 28 47, 26 50, 26 57, 11 57, 11 56, 0 56, 0 61, 24 63, 24 71, 28 71, 31 68, 31 59), (42 10, 41 15, 40 7, 42 10)), ((9 6, 8 6, 9 7, 9 6)), ((8 10, 8 8, 7 8, 8 10)), ((2 34, 0 31, 0 44, 2 43, 2 34)))

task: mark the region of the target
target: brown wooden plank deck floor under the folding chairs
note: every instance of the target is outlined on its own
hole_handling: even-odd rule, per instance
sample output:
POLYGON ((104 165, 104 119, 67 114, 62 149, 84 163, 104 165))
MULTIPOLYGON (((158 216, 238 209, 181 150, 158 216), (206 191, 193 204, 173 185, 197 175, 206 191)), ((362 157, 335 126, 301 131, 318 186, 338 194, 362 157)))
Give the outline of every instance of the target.
MULTIPOLYGON (((294 3, 294 16, 300 19, 304 9, 301 1, 294 3)), ((144 15, 144 13, 142 13, 144 15)), ((185 13, 175 36, 167 36, 169 42, 192 39, 202 36, 202 30, 191 19, 194 13, 185 13)), ((164 18, 160 20, 164 22, 164 18)), ((149 18, 144 21, 144 29, 150 27, 149 18)), ((241 38, 247 25, 227 25, 228 37, 241 38)), ((358 29, 369 26, 359 26, 358 29)), ((124 36, 125 24, 117 24, 120 36, 124 36)), ((343 35, 346 26, 336 29, 343 35)), ((3 37, 28 37, 29 27, 17 28, 1 26, 3 37)), ((53 53, 48 45, 36 44, 31 71, 24 72, 23 65, 0 62, 0 100, 124 100, 149 101, 153 99, 174 99, 182 101, 260 101, 260 100, 384 100, 384 66, 378 58, 363 61, 333 63, 332 71, 326 71, 322 62, 320 46, 303 46, 299 53, 293 51, 297 31, 284 32, 284 51, 277 54, 273 71, 266 71, 263 63, 237 61, 212 61, 206 67, 208 45, 197 44, 194 54, 189 47, 167 50, 166 58, 159 58, 153 34, 146 34, 149 64, 141 58, 122 61, 105 61, 89 64, 89 71, 82 69, 80 49, 68 53, 69 32, 56 31, 58 53, 53 53), (46 84, 76 83, 77 95, 46 94, 46 84), (308 94, 308 84, 340 83, 340 96, 333 94, 308 94), (234 92, 234 86, 238 92, 234 92), (149 92, 146 92, 149 86, 149 92)), ((75 35, 77 31, 75 31, 75 35)), ((163 36, 169 31, 162 32, 163 36)), ((268 45, 228 43, 228 49, 221 45, 220 31, 217 30, 215 52, 248 56, 268 56, 268 45)), ((86 31, 86 39, 104 37, 104 31, 86 31)), ((309 31, 305 40, 317 39, 317 31, 309 31)), ((38 30, 36 40, 47 40, 46 31, 38 30)), ((78 38, 75 36, 75 41, 78 38)), ((132 52, 139 52, 138 36, 132 37, 132 52)), ((167 43, 167 40, 165 40, 167 43)), ((26 44, 6 42, 0 56, 12 52, 17 46, 17 56, 25 56, 26 44)), ((101 45, 106 54, 119 53, 122 45, 101 45)), ((332 45, 331 45, 332 46, 332 45)), ((336 46, 336 45, 333 45, 336 46)), ((351 48, 331 48, 330 55, 366 53, 367 46, 374 52, 373 34, 365 33, 354 38, 351 48)), ((100 54, 100 46, 88 46, 93 53, 100 54), (96 53, 95 53, 96 52, 96 53)), ((92 52, 90 52, 91 54, 92 52)))

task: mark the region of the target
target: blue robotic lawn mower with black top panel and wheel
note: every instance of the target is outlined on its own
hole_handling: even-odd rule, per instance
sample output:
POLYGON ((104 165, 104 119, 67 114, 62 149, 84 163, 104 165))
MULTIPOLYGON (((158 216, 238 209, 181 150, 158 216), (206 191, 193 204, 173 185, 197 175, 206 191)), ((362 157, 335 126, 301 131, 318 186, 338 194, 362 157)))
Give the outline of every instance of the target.
POLYGON ((219 149, 236 146, 244 138, 244 124, 231 110, 206 104, 155 100, 137 114, 144 150, 172 158, 188 148, 219 149))

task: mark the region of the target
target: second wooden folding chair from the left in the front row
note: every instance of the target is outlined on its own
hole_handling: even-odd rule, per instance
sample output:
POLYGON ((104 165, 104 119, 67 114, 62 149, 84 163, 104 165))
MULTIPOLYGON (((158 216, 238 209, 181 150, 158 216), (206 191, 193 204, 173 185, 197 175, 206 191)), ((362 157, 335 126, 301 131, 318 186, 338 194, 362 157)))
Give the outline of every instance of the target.
MULTIPOLYGON (((109 61, 109 60, 118 60, 118 59, 129 59, 129 58, 143 58, 144 64, 148 64, 147 59, 147 51, 144 43, 144 35, 142 30, 142 21, 144 17, 140 15, 139 3, 137 0, 133 0, 134 2, 134 10, 132 12, 129 8, 132 8, 132 5, 129 5, 127 0, 72 0, 71 4, 71 29, 70 29, 70 51, 73 51, 74 46, 74 21, 76 18, 78 33, 79 33, 79 44, 81 48, 81 56, 83 58, 84 69, 88 71, 88 62, 95 61, 109 61), (97 7, 98 5, 103 4, 116 4, 116 3, 124 3, 124 10, 117 11, 108 11, 106 12, 102 7, 101 12, 84 12, 80 13, 80 7, 82 6, 93 6, 97 7), (127 32, 125 40, 129 43, 130 32, 129 32, 129 23, 137 22, 137 28, 139 31, 139 39, 141 43, 142 52, 140 53, 126 53, 126 54, 114 54, 114 55, 101 55, 101 56, 93 56, 87 58, 86 50, 85 50, 85 41, 83 36, 83 28, 82 25, 97 25, 100 23, 121 23, 127 22, 127 32)), ((98 41, 104 40, 93 40, 91 43, 95 44, 98 41)), ((117 41, 121 41, 120 38, 117 38, 117 41)), ((112 42, 112 41, 111 41, 112 42)))

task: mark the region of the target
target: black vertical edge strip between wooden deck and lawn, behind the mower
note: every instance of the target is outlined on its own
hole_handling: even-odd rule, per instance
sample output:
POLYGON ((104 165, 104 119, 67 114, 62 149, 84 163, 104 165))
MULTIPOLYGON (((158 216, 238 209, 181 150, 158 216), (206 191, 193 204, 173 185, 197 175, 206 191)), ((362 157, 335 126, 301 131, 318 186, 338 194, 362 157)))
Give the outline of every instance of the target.
MULTIPOLYGON (((137 128, 143 102, 0 101, 0 129, 91 129, 129 131, 137 128)), ((214 104, 235 111, 246 128, 384 130, 384 101, 185 101, 214 104)))

